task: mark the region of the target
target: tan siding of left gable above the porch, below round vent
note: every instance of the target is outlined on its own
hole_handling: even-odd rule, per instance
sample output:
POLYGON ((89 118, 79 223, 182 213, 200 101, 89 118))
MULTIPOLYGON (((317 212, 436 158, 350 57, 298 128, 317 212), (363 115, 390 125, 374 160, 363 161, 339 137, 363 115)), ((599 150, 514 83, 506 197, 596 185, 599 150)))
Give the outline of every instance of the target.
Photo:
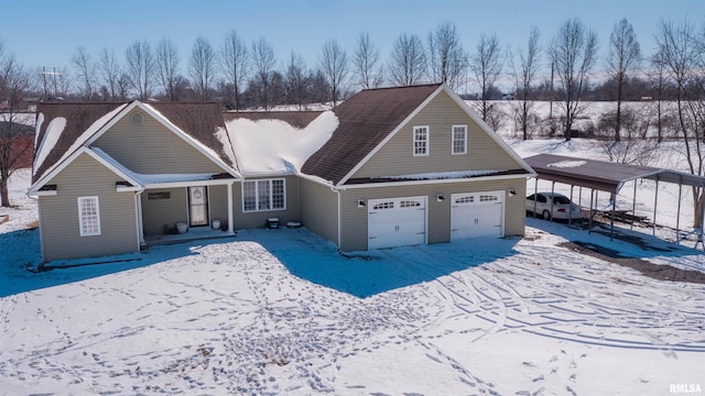
POLYGON ((217 174, 223 172, 208 157, 162 123, 142 113, 144 123, 133 124, 130 121, 132 113, 127 114, 106 131, 94 145, 137 173, 217 174))

